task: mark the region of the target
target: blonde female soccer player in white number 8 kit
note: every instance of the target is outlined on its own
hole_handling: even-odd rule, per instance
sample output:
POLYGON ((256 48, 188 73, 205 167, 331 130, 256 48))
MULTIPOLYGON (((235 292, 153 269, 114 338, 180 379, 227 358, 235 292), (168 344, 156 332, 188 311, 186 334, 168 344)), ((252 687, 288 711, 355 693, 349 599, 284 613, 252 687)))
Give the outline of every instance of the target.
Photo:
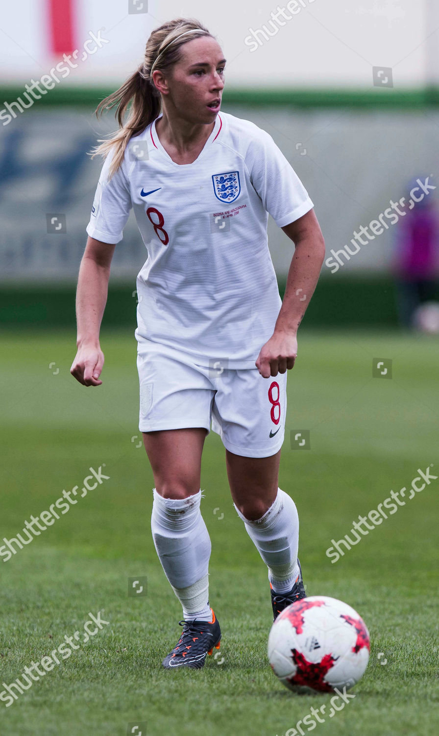
POLYGON ((235 509, 268 566, 274 617, 305 595, 296 506, 277 484, 287 370, 324 239, 313 202, 271 136, 219 114, 225 63, 204 26, 178 18, 151 33, 138 70, 100 103, 97 113, 117 106, 119 130, 94 149, 106 158, 76 295, 71 373, 99 386, 110 263, 133 208, 148 249, 135 336, 139 428, 155 484, 151 529, 183 609, 182 636, 163 660, 168 669, 201 668, 220 645, 200 513, 211 421, 226 448, 235 509), (268 213, 296 246, 283 303, 268 213))

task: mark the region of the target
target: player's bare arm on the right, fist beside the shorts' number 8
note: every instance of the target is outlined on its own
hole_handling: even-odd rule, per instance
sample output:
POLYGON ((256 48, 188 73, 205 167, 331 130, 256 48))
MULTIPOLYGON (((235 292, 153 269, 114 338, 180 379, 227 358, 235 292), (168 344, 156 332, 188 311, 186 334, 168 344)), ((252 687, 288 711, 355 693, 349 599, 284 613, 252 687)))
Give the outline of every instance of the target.
POLYGON ((285 296, 274 333, 265 342, 256 366, 264 378, 293 368, 297 357, 297 330, 313 296, 324 261, 325 244, 318 219, 310 210, 282 230, 296 246, 288 271, 285 296))

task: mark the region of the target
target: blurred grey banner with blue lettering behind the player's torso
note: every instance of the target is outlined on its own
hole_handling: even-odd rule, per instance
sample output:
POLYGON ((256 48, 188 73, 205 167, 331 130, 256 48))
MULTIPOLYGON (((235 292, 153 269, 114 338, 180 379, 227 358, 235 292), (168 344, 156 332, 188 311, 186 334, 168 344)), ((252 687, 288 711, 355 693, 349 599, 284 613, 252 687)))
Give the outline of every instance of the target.
MULTIPOLYGON (((224 109, 267 130, 310 192, 326 239, 327 277, 388 272, 407 213, 422 200, 438 202, 437 112, 224 109), (418 191, 410 207, 412 183, 418 191)), ((110 114, 98 124, 90 109, 63 107, 35 110, 4 128, 1 283, 76 280, 102 166, 87 152, 113 128, 110 114)), ((268 236, 276 272, 285 277, 293 244, 271 219, 268 236)), ((112 280, 132 280, 146 257, 131 212, 115 249, 112 280)))

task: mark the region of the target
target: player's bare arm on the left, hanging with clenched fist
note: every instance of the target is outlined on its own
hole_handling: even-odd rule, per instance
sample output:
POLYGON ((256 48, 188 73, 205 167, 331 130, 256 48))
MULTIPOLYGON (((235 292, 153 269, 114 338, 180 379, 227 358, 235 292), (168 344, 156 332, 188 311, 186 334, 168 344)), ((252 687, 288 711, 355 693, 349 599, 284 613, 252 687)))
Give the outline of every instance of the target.
POLYGON ((88 236, 76 289, 78 348, 71 364, 71 375, 84 386, 100 386, 104 353, 99 344, 99 329, 107 302, 110 265, 115 245, 88 236))

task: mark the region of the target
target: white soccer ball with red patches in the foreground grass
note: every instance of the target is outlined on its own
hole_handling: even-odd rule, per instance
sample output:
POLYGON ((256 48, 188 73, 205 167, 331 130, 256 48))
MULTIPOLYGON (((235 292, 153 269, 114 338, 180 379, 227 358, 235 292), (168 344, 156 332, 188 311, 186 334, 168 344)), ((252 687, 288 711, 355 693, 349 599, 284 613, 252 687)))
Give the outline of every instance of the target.
POLYGON ((351 606, 324 595, 285 608, 268 636, 271 669, 296 692, 349 689, 363 676, 370 651, 363 619, 351 606))

